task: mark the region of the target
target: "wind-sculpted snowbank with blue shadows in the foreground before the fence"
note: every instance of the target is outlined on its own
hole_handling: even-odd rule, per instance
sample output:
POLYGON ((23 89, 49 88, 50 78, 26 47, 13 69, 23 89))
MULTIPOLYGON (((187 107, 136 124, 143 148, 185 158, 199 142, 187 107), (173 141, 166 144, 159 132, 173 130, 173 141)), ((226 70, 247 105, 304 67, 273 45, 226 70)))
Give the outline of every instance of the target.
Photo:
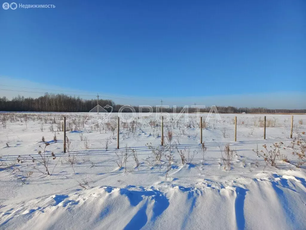
MULTIPOLYGON (((305 179, 101 186, 8 205, 1 229, 305 229, 305 179)), ((3 208, 3 207, 2 207, 3 208)))

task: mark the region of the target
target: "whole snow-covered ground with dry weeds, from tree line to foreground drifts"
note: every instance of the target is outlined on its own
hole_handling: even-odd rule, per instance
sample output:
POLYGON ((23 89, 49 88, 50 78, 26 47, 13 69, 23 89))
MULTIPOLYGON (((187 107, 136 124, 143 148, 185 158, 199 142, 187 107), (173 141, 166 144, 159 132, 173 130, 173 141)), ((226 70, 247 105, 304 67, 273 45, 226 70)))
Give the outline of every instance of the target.
POLYGON ((266 115, 263 140, 264 115, 220 114, 203 124, 203 146, 207 114, 189 114, 164 121, 164 147, 160 121, 143 115, 121 120, 117 150, 115 113, 98 124, 106 114, 0 113, 0 229, 306 229, 291 143, 305 140, 306 115, 294 115, 293 139, 291 115, 266 115), (272 167, 256 149, 275 143, 272 167))

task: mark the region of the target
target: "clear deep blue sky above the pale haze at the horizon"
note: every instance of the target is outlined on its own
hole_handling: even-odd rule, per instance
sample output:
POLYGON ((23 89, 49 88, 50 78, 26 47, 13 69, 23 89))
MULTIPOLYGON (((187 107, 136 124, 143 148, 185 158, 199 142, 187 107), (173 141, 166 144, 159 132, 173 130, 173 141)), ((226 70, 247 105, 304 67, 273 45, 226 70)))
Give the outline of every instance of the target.
POLYGON ((0 8, 0 76, 144 98, 306 91, 303 0, 19 3, 56 7, 0 8))

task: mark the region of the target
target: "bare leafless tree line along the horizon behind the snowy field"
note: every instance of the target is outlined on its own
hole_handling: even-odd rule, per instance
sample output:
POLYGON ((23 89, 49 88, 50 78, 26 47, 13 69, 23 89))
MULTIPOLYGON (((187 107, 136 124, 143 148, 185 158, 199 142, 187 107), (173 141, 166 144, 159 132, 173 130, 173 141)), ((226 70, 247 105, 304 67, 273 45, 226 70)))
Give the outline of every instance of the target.
MULTIPOLYGON (((24 98, 18 95, 12 100, 6 97, 0 97, 0 111, 12 112, 89 112, 97 105, 96 99, 83 99, 80 97, 67 96, 65 94, 48 94, 38 98, 24 98)), ((123 105, 115 104, 112 100, 99 99, 99 105, 104 107, 110 105, 113 107, 113 112, 118 112, 123 105)), ((132 106, 136 112, 139 112, 138 106, 132 106)), ((208 113, 211 107, 198 109, 192 105, 188 106, 188 112, 208 113)), ((306 113, 306 109, 267 109, 264 107, 258 108, 236 108, 233 106, 216 106, 219 113, 306 113)), ((153 112, 156 112, 156 106, 152 106, 153 112)), ((105 108, 110 112, 111 108, 105 108)), ((177 106, 176 112, 179 113, 183 109, 182 106, 177 106)), ((159 109, 160 111, 161 109, 159 109)), ((173 113, 174 108, 163 108, 163 112, 173 113)), ((124 109, 122 112, 132 112, 131 109, 124 109)), ((142 109, 142 112, 149 112, 149 109, 142 109)))

